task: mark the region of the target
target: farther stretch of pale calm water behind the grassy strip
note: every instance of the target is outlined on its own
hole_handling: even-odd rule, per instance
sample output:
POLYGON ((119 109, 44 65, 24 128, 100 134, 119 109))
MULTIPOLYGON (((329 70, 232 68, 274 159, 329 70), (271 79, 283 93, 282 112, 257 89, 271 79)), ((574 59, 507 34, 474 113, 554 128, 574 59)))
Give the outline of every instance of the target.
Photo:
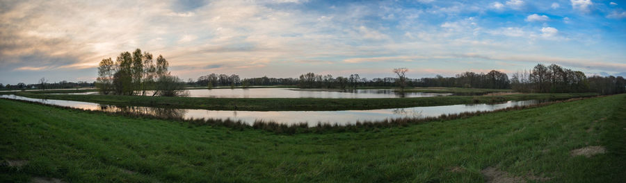
MULTIPOLYGON (((392 89, 355 89, 349 92, 321 91, 314 89, 293 88, 250 88, 250 89, 186 89, 190 97, 211 98, 399 98, 449 96, 451 94, 406 93, 404 95, 392 89)), ((147 92, 152 95, 152 92, 147 92)), ((83 92, 72 94, 98 94, 83 92)))

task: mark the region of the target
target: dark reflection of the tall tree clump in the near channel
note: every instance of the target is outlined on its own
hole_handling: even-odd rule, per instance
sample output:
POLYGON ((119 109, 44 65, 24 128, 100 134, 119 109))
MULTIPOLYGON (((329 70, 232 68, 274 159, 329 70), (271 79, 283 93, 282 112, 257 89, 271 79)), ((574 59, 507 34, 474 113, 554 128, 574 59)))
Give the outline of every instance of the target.
POLYGON ((180 119, 185 116, 188 110, 161 107, 139 107, 139 106, 114 106, 100 105, 100 110, 104 112, 122 112, 130 114, 147 114, 165 119, 180 119))

